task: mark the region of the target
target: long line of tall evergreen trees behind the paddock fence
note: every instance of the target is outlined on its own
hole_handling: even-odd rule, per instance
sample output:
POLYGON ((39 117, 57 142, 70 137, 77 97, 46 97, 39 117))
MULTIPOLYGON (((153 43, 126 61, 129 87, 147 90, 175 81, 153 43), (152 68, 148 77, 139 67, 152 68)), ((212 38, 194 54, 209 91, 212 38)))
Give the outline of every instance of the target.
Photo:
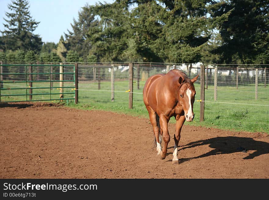
POLYGON ((31 19, 27 0, 11 2, 8 8, 15 12, 6 12, 0 37, 5 61, 19 62, 23 55, 26 61, 34 53, 40 62, 269 64, 266 0, 86 4, 57 44, 42 44, 32 33, 39 22, 31 19))

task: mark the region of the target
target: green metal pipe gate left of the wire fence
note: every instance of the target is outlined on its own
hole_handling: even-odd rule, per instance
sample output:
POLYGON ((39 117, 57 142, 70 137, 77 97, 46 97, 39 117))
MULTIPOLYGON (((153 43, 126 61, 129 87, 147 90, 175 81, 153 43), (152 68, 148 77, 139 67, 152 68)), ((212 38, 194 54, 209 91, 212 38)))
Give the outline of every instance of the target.
POLYGON ((0 102, 66 100, 68 103, 68 100, 74 100, 77 103, 76 71, 77 64, 3 64, 0 71, 0 102))

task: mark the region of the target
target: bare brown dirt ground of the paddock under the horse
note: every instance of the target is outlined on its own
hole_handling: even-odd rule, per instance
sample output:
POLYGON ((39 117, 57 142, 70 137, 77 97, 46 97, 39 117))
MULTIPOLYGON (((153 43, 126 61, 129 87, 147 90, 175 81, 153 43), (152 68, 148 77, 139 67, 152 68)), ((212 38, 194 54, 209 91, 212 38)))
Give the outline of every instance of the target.
POLYGON ((0 178, 269 178, 266 133, 184 125, 179 165, 149 120, 48 103, 0 104, 0 178))

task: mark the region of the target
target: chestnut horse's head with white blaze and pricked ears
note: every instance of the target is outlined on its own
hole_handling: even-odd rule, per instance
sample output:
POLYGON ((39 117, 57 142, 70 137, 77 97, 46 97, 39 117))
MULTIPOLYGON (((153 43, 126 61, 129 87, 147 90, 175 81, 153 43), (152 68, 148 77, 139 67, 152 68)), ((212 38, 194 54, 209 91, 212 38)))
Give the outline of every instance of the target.
POLYGON ((193 121, 194 118, 193 103, 196 91, 193 83, 197 80, 198 76, 199 75, 197 75, 193 79, 185 80, 183 80, 182 77, 179 77, 180 89, 178 93, 178 101, 179 104, 181 104, 183 107, 186 121, 193 121))

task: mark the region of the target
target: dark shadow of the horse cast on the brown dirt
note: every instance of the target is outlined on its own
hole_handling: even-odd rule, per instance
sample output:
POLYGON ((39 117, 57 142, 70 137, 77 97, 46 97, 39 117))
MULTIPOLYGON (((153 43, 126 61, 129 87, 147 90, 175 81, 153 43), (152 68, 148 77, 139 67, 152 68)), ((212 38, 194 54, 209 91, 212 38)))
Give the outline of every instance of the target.
POLYGON ((246 156, 243 159, 253 159, 256 156, 269 153, 269 143, 267 142, 256 141, 253 140, 252 138, 234 137, 234 136, 216 137, 211 139, 190 142, 189 144, 180 146, 178 151, 202 145, 209 145, 209 147, 211 147, 212 150, 200 156, 179 159, 179 163, 184 163, 186 161, 196 158, 203 158, 207 156, 213 156, 218 154, 229 154, 235 152, 246 153, 246 156), (254 150, 254 152, 248 153, 249 150, 251 151, 254 150))

